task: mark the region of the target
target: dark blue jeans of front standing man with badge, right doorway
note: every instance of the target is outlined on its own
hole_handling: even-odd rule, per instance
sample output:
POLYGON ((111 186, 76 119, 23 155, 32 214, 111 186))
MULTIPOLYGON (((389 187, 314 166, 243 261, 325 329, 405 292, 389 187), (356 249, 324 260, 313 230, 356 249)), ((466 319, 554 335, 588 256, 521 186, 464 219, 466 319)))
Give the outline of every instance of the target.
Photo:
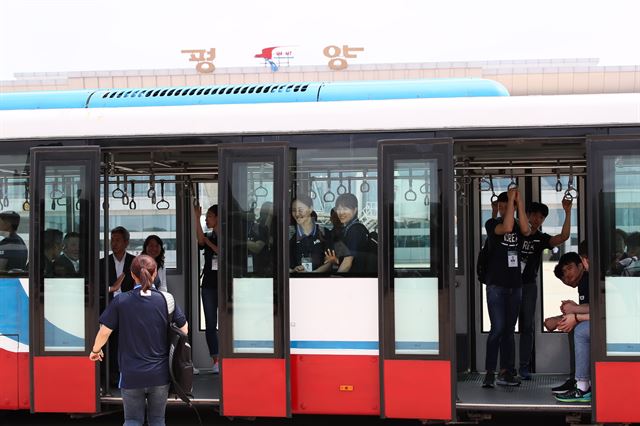
POLYGON ((500 352, 500 368, 512 370, 515 355, 514 332, 518 313, 522 288, 508 288, 497 285, 487 285, 487 306, 491 330, 487 338, 487 356, 485 368, 487 371, 496 371, 498 364, 498 351, 500 352))

